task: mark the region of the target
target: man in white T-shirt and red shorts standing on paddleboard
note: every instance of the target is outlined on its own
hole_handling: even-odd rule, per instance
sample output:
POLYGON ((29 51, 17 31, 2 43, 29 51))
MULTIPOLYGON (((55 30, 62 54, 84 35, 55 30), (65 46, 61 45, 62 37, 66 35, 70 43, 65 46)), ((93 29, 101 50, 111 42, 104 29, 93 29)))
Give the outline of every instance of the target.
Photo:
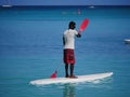
POLYGON ((75 37, 80 38, 80 33, 76 30, 76 23, 70 22, 68 29, 63 34, 63 44, 64 44, 64 63, 65 63, 65 77, 66 78, 76 78, 74 75, 74 65, 75 65, 75 37), (68 74, 68 65, 70 69, 70 74, 68 74))

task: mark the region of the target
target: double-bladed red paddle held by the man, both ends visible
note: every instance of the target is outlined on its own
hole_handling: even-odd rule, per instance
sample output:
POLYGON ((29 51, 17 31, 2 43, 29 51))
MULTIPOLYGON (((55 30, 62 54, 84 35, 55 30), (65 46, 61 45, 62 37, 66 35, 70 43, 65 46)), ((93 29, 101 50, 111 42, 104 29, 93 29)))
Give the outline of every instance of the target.
MULTIPOLYGON (((89 24, 89 19, 86 18, 86 19, 82 22, 82 24, 80 25, 79 33, 81 33, 81 32, 87 28, 88 24, 89 24)), ((50 78, 51 78, 51 79, 56 78, 56 73, 57 73, 57 69, 55 70, 54 73, 52 73, 52 75, 51 75, 50 78)))

